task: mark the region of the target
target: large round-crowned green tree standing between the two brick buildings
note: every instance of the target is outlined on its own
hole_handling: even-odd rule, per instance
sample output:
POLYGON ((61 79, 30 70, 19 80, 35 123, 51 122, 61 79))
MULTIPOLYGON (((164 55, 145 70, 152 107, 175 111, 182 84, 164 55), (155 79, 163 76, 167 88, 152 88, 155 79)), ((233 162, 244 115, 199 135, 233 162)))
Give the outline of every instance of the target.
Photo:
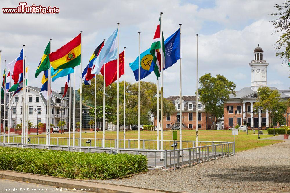
POLYGON ((204 74, 199 79, 200 88, 198 94, 200 101, 205 106, 207 113, 213 114, 214 129, 216 128, 216 117, 224 114, 224 103, 229 99, 229 95, 235 96, 236 85, 222 75, 211 76, 204 74))

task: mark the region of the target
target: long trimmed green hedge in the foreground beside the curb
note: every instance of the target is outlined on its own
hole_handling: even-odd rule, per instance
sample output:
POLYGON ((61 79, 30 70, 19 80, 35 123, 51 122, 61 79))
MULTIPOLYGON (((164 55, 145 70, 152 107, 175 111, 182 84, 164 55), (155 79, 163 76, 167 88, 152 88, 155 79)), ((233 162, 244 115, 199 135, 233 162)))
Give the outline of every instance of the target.
POLYGON ((0 147, 0 169, 73 178, 113 179, 147 171, 144 155, 0 147))

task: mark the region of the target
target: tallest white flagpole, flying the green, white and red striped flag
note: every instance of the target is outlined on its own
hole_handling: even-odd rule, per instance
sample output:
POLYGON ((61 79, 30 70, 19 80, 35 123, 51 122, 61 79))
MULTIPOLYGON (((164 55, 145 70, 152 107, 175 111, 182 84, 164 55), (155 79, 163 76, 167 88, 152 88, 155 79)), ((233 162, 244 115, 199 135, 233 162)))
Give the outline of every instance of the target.
MULTIPOLYGON (((162 31, 162 12, 160 13, 160 48, 161 48, 161 150, 163 151, 163 31, 162 31)), ((161 159, 164 160, 164 155, 161 153, 161 159)))

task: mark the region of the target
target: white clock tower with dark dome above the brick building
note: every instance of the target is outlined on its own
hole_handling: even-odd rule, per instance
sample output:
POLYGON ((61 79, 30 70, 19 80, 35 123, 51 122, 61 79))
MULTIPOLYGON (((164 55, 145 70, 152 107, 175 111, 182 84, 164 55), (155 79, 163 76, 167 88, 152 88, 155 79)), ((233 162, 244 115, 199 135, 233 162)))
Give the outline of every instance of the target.
POLYGON ((255 60, 249 63, 251 67, 251 88, 257 91, 261 86, 267 86, 267 66, 269 63, 264 60, 263 50, 258 47, 254 50, 255 60))

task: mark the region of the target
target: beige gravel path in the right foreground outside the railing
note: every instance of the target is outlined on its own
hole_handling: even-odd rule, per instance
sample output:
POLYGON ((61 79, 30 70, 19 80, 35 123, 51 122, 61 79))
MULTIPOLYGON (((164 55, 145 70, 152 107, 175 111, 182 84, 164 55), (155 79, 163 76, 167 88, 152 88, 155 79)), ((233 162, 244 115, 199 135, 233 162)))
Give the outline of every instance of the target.
POLYGON ((290 192, 290 141, 238 152, 173 171, 144 174, 105 183, 180 192, 290 192))

